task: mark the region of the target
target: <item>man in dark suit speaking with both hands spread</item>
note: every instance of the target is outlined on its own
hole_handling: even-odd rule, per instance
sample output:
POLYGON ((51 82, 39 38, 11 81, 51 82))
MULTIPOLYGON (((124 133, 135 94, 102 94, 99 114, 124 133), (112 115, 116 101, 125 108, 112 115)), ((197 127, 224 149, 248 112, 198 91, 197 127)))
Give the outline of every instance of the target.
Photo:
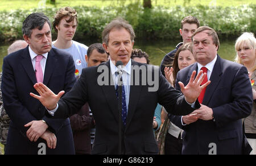
MULTIPOLYGON (((31 96, 39 99, 55 118, 68 117, 88 102, 96 122, 93 154, 118 153, 119 118, 115 91, 118 82, 118 68, 115 67, 117 61, 123 63, 122 154, 157 154, 158 146, 152 131, 152 119, 157 103, 166 107, 172 114, 187 115, 199 108, 196 99, 201 89, 210 83, 200 86, 204 78, 199 78, 203 73, 200 72, 186 87, 180 83, 181 91, 185 94, 183 96, 168 84, 160 74, 159 68, 155 69, 154 66, 136 63, 130 59, 134 37, 133 28, 129 23, 121 18, 112 20, 102 32, 103 45, 110 55, 110 61, 98 67, 83 69, 75 86, 61 99, 64 92, 55 95, 42 83, 34 86, 40 96, 31 93, 31 96), (147 81, 144 76, 147 76, 147 80, 152 78, 156 88, 148 82, 144 84, 143 82, 147 81), (134 84, 134 81, 138 84, 134 84), (195 107, 191 106, 192 103, 195 107)), ((193 72, 192 78, 195 73, 193 72)))

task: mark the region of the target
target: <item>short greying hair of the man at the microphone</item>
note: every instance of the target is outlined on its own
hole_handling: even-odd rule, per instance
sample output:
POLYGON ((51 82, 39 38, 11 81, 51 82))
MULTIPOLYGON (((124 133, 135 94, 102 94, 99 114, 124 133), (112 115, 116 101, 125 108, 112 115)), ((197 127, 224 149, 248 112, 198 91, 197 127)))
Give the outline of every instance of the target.
POLYGON ((119 17, 113 19, 112 22, 106 25, 106 27, 102 31, 103 43, 106 43, 106 45, 109 44, 109 32, 112 31, 114 28, 117 28, 118 30, 120 30, 121 28, 125 28, 131 35, 131 42, 134 42, 135 33, 133 27, 131 26, 131 24, 129 24, 129 22, 119 17))

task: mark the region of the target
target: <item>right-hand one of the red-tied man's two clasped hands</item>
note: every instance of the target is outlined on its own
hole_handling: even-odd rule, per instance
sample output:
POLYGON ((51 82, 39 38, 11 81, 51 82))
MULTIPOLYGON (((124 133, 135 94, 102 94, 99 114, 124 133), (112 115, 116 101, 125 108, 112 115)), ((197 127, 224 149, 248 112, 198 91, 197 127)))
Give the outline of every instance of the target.
POLYGON ((204 121, 209 121, 213 119, 213 111, 210 107, 202 105, 200 109, 193 111, 193 114, 197 114, 196 116, 199 119, 203 119, 204 121))

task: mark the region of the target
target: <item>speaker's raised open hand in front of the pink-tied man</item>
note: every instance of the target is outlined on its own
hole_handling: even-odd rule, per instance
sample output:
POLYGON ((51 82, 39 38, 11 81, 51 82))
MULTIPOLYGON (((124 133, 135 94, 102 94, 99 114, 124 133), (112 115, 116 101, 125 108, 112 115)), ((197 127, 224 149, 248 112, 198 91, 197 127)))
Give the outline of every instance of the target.
POLYGON ((57 106, 57 102, 59 101, 60 97, 63 96, 65 93, 64 90, 59 92, 59 94, 55 94, 49 89, 46 85, 42 82, 36 83, 34 88, 39 93, 40 96, 30 93, 30 96, 39 99, 39 101, 44 105, 48 110, 53 110, 57 106))

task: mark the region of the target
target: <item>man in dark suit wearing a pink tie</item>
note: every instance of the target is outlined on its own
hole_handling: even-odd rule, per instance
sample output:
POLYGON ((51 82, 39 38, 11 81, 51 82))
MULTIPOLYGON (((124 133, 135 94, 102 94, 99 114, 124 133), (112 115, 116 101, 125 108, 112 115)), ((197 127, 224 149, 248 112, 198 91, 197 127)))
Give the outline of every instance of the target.
POLYGON ((28 47, 3 60, 3 105, 11 119, 6 154, 74 154, 69 119, 47 118, 44 106, 29 95, 36 93, 36 82, 55 93, 68 92, 76 81, 73 59, 52 49, 51 23, 44 14, 28 15, 22 31, 28 47))

